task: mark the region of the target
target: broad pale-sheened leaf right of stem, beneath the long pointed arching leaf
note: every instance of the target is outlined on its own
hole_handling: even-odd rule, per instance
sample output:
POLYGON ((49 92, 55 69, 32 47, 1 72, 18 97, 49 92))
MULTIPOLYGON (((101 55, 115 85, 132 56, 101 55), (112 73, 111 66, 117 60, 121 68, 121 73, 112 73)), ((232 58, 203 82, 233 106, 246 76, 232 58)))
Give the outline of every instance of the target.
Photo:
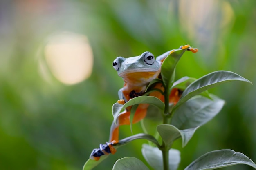
POLYGON ((211 99, 195 96, 177 110, 171 119, 171 124, 179 129, 202 126, 215 117, 225 104, 225 101, 215 95, 211 99))

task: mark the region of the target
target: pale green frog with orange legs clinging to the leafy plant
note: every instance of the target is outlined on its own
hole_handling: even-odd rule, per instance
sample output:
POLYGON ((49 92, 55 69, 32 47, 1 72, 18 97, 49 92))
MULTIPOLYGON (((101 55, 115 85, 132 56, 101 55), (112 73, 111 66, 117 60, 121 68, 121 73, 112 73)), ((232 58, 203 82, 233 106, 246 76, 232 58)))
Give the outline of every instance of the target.
MULTIPOLYGON (((188 47, 189 45, 184 45, 180 46, 179 49, 186 49, 188 47)), ((161 79, 160 73, 162 62, 173 51, 175 50, 167 51, 156 58, 149 51, 135 57, 117 57, 113 61, 112 66, 117 71, 117 75, 124 80, 124 86, 118 91, 119 100, 117 102, 119 104, 125 104, 134 97, 144 95, 146 88, 151 81, 157 78, 161 79)), ((189 47, 188 51, 196 53, 198 49, 189 47)), ((156 83, 153 88, 159 89, 162 92, 165 90, 162 83, 156 83)), ((164 95, 160 91, 153 91, 149 96, 157 97, 164 102, 164 95)), ((181 94, 182 91, 178 88, 173 88, 169 95, 169 103, 175 105, 179 101, 181 94)), ((132 119, 132 124, 135 124, 146 117, 148 106, 149 104, 139 104, 137 106, 132 119)), ((118 115, 116 122, 112 122, 109 143, 107 145, 108 148, 112 150, 111 153, 115 153, 113 144, 117 144, 119 141, 119 126, 130 125, 131 108, 132 106, 127 107, 118 115)), ((100 148, 103 147, 101 146, 100 148)), ((94 149, 90 158, 99 160, 99 157, 104 155, 104 153, 106 153, 104 152, 104 149, 94 149)))

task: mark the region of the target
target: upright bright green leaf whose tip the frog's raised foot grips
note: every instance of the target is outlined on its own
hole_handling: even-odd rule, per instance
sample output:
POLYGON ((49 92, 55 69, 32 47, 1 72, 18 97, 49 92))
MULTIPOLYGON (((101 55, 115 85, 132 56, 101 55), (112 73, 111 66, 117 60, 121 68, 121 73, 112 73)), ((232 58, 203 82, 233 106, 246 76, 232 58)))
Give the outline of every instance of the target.
MULTIPOLYGON (((189 46, 189 47, 192 47, 192 46, 189 46)), ((166 89, 170 89, 171 80, 173 79, 173 75, 174 75, 173 73, 175 71, 175 67, 176 67, 178 61, 180 60, 181 56, 183 55, 183 53, 187 49, 189 49, 189 47, 186 49, 177 49, 177 50, 173 51, 171 54, 169 54, 166 57, 166 59, 162 63, 161 75, 162 75, 162 80, 164 82, 164 86, 166 89)), ((159 57, 161 58, 161 56, 159 56, 159 57)))

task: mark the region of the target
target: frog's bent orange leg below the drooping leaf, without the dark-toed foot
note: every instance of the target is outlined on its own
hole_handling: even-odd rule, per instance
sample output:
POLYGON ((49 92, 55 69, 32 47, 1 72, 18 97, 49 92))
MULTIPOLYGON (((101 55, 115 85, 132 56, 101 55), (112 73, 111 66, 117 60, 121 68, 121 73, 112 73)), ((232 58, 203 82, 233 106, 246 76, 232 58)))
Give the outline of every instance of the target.
MULTIPOLYGON (((141 119, 144 119, 147 113, 147 107, 148 104, 139 104, 137 107, 137 110, 135 111, 134 117, 132 119, 132 124, 135 124, 141 119)), ((129 125, 130 124, 130 110, 131 107, 129 107, 124 112, 120 113, 117 117, 117 122, 112 122, 111 128, 110 128, 110 136, 109 136, 109 142, 112 143, 118 143, 119 140, 119 126, 121 125, 129 125)))

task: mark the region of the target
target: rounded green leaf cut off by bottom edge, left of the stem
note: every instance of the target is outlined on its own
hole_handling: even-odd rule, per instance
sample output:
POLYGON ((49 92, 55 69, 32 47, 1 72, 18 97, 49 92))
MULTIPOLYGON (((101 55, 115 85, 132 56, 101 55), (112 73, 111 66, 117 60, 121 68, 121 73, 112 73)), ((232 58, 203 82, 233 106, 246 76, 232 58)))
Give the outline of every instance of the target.
POLYGON ((149 170, 148 167, 135 157, 124 157, 118 159, 112 170, 149 170))

